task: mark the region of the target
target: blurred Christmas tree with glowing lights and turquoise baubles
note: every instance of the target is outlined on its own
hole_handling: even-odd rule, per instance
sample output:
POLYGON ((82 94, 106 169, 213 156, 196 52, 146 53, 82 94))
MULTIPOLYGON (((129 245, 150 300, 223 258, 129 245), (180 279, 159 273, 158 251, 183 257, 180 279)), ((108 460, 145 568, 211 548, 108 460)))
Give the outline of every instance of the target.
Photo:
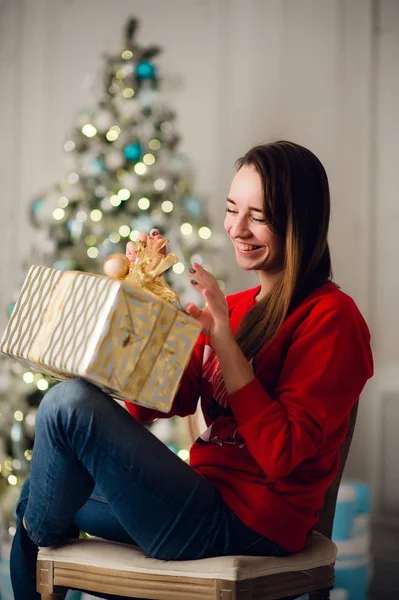
MULTIPOLYGON (((202 263, 223 288, 222 263, 215 270, 214 260, 219 242, 203 201, 193 192, 190 164, 178 150, 175 114, 160 90, 156 57, 161 50, 141 46, 137 26, 136 19, 128 21, 122 48, 105 57, 98 101, 77 116, 68 133, 65 179, 32 203, 35 235, 24 270, 36 263, 101 273, 109 254, 124 253, 126 242, 135 241, 139 231, 156 227, 180 258, 169 283, 183 302, 198 303, 185 272, 193 261, 202 263)), ((36 409, 54 383, 14 360, 0 360, 0 484, 10 519, 29 471, 36 409)), ((153 429, 188 458, 176 422, 160 420, 153 429)))

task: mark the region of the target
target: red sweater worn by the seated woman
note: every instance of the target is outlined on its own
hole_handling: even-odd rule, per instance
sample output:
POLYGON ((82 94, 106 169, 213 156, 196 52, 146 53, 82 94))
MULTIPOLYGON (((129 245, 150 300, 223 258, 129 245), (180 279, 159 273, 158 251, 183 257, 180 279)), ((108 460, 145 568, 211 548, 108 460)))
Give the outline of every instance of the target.
MULTIPOLYGON (((227 298, 236 331, 259 287, 227 298)), ((228 395, 201 334, 170 413, 127 403, 139 421, 196 410, 208 429, 190 464, 250 528, 290 552, 304 546, 339 466, 352 406, 373 373, 370 334, 353 300, 328 283, 287 317, 252 364, 254 379, 228 395)))

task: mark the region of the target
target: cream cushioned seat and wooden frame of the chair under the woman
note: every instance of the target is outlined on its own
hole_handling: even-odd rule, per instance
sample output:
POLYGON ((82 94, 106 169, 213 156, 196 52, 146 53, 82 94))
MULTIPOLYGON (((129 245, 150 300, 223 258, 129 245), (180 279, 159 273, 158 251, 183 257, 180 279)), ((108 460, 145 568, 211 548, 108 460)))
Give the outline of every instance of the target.
POLYGON ((186 561, 156 560, 101 538, 67 540, 40 549, 37 590, 42 600, 61 600, 62 588, 153 600, 275 600, 332 588, 336 553, 335 544, 319 533, 308 536, 304 550, 284 558, 186 561))

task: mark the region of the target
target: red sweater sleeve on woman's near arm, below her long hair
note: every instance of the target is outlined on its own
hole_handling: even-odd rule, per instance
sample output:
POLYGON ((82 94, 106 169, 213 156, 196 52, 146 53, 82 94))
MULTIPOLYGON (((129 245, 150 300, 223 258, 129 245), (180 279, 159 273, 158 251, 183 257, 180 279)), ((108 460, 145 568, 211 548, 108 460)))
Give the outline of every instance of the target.
POLYGON ((286 476, 336 435, 372 372, 370 334, 348 299, 312 311, 297 327, 273 398, 260 383, 262 364, 229 396, 239 432, 270 479, 286 476))

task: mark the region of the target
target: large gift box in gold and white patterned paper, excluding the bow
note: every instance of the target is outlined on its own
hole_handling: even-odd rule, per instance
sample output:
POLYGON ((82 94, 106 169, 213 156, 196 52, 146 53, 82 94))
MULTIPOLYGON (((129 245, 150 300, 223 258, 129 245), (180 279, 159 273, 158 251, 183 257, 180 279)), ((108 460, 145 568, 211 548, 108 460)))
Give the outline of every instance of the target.
POLYGON ((33 266, 0 350, 57 379, 82 377, 168 412, 200 329, 128 281, 33 266))

